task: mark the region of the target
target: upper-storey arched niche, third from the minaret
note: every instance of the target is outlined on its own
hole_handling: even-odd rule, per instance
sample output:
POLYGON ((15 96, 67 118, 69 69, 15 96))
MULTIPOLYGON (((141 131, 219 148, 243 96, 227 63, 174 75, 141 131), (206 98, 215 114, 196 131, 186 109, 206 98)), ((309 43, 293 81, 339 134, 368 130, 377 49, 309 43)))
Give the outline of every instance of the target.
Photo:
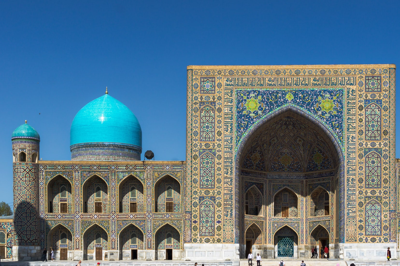
POLYGON ((118 212, 144 213, 143 184, 133 175, 125 177, 118 186, 118 212))

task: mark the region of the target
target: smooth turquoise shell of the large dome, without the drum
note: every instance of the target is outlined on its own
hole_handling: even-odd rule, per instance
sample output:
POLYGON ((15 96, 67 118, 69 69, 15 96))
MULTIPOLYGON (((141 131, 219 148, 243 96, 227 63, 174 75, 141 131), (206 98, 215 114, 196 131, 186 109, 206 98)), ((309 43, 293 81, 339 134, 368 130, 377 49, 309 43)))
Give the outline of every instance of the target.
POLYGON ((71 146, 99 142, 142 147, 138 119, 125 104, 108 94, 80 109, 71 126, 71 146))

